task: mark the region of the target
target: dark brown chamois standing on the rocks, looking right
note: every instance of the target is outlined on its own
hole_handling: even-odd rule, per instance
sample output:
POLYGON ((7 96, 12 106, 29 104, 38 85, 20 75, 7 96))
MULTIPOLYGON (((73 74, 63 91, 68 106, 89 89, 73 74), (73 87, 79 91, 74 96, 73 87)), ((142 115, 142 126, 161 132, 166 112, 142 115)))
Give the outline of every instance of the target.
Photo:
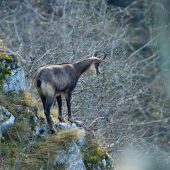
POLYGON ((71 118, 71 94, 76 87, 77 81, 82 73, 88 70, 96 75, 100 74, 99 64, 106 58, 106 53, 104 52, 103 59, 97 58, 97 55, 98 51, 95 51, 92 57, 72 64, 63 63, 57 65, 46 65, 39 68, 35 73, 34 86, 42 100, 44 113, 52 133, 55 133, 55 130, 50 117, 50 108, 54 100, 56 99, 58 103, 58 119, 61 122, 64 122, 61 112, 61 95, 65 95, 68 109, 68 120, 73 122, 71 118))

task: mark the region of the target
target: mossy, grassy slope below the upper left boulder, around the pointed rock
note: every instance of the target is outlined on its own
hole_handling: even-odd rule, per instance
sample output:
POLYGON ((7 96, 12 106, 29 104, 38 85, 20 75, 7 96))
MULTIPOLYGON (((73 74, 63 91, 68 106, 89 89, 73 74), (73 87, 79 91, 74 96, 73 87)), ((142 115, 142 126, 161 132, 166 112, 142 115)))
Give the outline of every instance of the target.
MULTIPOLYGON (((32 130, 36 123, 32 119, 31 113, 37 114, 36 107, 30 106, 30 98, 25 92, 19 92, 18 95, 9 92, 0 93, 0 105, 5 107, 15 118, 16 122, 3 131, 0 145, 0 161, 3 167, 11 165, 7 169, 12 169, 12 164, 17 158, 20 148, 27 147, 33 140, 32 130), (20 111, 16 110, 20 108, 20 111), (25 120, 29 120, 27 123, 25 120), (9 162, 10 161, 10 162, 9 162)), ((24 155, 24 152, 20 152, 24 155)))

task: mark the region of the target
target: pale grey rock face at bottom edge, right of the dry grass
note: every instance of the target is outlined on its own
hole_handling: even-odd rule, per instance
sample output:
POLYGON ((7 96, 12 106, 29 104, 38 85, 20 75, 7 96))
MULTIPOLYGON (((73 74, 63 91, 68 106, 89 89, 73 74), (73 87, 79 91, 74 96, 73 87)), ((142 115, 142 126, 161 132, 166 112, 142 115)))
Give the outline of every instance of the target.
POLYGON ((65 163, 65 170, 86 170, 83 156, 74 141, 69 144, 68 149, 62 150, 57 154, 53 164, 56 165, 57 163, 65 163))

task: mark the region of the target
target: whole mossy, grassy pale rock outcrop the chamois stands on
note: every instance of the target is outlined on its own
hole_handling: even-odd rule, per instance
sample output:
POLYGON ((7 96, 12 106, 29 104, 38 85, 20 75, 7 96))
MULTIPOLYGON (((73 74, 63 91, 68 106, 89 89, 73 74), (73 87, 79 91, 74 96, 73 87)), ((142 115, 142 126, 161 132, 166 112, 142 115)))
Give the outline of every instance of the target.
MULTIPOLYGON (((27 167, 25 167, 26 169, 28 167, 31 169, 30 166, 34 169, 33 164, 42 169, 48 164, 51 169, 61 167, 61 169, 65 170, 86 170, 87 166, 91 166, 91 161, 94 161, 94 164, 100 162, 100 165, 102 165, 97 165, 93 169, 106 169, 104 153, 101 149, 98 149, 97 143, 93 148, 95 152, 90 156, 90 142, 86 140, 87 136, 83 122, 54 122, 57 133, 54 135, 49 134, 46 119, 38 118, 36 111, 26 104, 24 93, 19 93, 25 90, 25 76, 16 54, 10 50, 1 50, 1 48, 0 79, 2 80, 1 87, 3 87, 4 91, 3 96, 6 96, 5 101, 0 100, 2 104, 0 106, 0 138, 2 137, 3 140, 7 138, 8 140, 8 134, 10 134, 11 145, 13 145, 13 140, 16 140, 15 144, 17 143, 18 146, 23 140, 27 141, 32 137, 35 140, 25 142, 27 144, 23 147, 22 153, 17 151, 18 146, 9 150, 14 154, 14 157, 17 157, 17 153, 22 157, 20 165, 23 167, 21 169, 24 169, 25 166, 27 167), (14 123, 15 120, 16 123, 14 123), (14 125, 9 127, 12 124, 14 125), (8 133, 5 131, 7 128, 8 133), (84 151, 89 152, 86 153, 86 158, 84 157, 84 151), (96 153, 96 156, 94 153, 96 153), (43 157, 42 160, 41 156, 43 157), (49 161, 44 163, 46 160, 49 161), (90 160, 89 163, 88 160, 90 160)), ((4 146, 6 145, 4 144, 4 146)), ((3 149, 3 154, 5 155, 5 152, 7 152, 6 147, 3 149)), ((13 166, 16 166, 16 164, 13 166)))

